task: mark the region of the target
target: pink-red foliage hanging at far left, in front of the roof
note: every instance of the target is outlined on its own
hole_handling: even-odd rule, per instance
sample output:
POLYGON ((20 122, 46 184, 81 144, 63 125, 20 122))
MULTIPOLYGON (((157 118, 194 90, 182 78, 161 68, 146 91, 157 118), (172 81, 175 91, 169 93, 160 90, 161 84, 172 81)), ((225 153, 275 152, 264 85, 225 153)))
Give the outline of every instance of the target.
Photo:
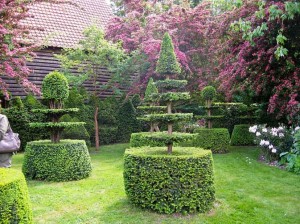
POLYGON ((28 81, 30 70, 26 59, 34 56, 36 45, 28 40, 29 29, 20 21, 29 17, 28 6, 36 2, 55 2, 56 0, 0 0, 0 88, 6 98, 9 98, 8 85, 3 77, 10 77, 24 89, 40 93, 40 90, 28 81))

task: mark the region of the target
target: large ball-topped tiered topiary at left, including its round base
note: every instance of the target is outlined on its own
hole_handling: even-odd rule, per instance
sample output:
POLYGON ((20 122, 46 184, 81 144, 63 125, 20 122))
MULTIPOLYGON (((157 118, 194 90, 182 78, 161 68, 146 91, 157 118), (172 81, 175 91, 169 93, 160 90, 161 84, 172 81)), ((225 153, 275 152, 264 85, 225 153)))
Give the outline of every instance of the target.
POLYGON ((77 112, 78 108, 63 109, 68 98, 67 79, 59 72, 49 73, 42 84, 43 98, 50 109, 36 109, 51 119, 47 123, 30 123, 30 127, 49 130, 51 141, 34 141, 26 146, 23 173, 30 179, 68 181, 86 178, 91 172, 91 160, 86 143, 82 140, 60 141, 64 128, 82 126, 84 122, 59 122, 64 114, 77 112), (45 171, 46 170, 46 171, 45 171))

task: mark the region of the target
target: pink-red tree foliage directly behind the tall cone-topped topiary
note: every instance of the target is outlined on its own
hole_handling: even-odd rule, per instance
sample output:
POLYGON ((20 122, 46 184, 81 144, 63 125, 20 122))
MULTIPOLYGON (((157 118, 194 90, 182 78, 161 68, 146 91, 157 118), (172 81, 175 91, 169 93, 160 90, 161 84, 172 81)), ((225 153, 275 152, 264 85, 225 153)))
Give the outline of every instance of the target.
MULTIPOLYGON (((207 23, 211 18, 209 4, 191 8, 186 2, 174 5, 173 1, 124 1, 125 16, 114 18, 107 27, 107 37, 121 40, 126 51, 138 50, 146 55, 150 67, 141 74, 139 84, 145 85, 155 77, 155 66, 163 34, 173 39, 175 53, 183 75, 189 78, 190 88, 205 85, 211 76, 208 64, 207 23), (199 78, 201 77, 201 78, 199 78)), ((135 85, 139 89, 139 85, 135 85)))

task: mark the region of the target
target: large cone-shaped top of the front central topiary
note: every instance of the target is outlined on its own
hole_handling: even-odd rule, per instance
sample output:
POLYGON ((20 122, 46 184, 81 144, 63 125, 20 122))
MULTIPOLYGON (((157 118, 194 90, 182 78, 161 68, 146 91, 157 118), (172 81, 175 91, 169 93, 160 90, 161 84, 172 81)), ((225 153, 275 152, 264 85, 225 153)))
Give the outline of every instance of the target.
POLYGON ((168 33, 165 33, 156 65, 156 72, 161 75, 172 75, 178 74, 180 71, 181 69, 174 53, 172 39, 168 33))

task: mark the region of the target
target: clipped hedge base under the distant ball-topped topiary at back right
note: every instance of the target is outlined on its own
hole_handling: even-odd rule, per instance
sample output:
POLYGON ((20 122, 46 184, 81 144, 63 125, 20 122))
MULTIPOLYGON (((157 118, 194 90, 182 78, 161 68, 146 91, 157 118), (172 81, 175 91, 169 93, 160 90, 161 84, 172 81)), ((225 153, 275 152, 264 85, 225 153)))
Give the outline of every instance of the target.
POLYGON ((198 134, 192 141, 192 146, 210 149, 213 153, 228 152, 230 135, 226 128, 196 128, 198 134))

